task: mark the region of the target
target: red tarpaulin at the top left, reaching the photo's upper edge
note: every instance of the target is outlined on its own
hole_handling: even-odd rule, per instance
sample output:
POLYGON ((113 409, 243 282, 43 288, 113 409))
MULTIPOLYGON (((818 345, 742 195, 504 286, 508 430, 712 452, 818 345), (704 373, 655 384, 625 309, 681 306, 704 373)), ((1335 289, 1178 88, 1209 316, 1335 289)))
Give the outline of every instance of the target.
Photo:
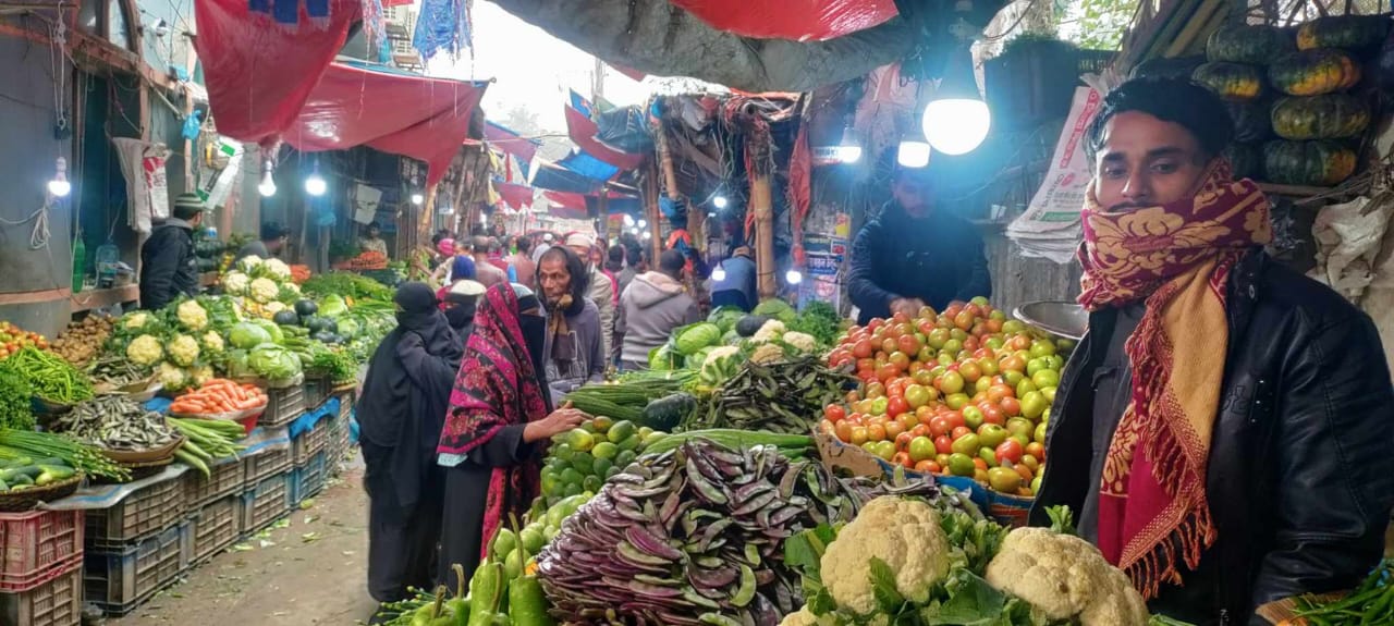
POLYGON ((309 91, 344 46, 358 0, 330 0, 329 20, 280 24, 247 0, 198 0, 194 49, 204 64, 217 132, 244 142, 275 141, 300 114, 309 91))

